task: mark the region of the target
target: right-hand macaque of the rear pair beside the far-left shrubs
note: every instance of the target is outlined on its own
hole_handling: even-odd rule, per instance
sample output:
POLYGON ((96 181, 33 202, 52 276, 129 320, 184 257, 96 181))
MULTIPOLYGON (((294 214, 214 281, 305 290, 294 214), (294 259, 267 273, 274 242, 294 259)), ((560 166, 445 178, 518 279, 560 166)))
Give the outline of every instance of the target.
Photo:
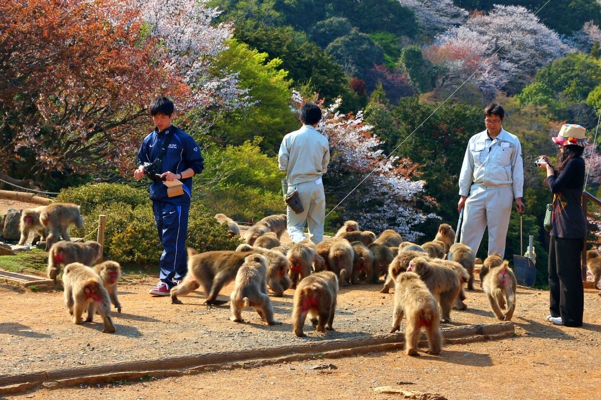
POLYGON ((50 203, 40 212, 40 221, 47 232, 46 250, 50 250, 52 245, 58 240, 63 239, 71 241, 69 237, 69 226, 75 224, 78 228, 84 227, 84 219, 81 217, 81 210, 74 203, 50 203))

